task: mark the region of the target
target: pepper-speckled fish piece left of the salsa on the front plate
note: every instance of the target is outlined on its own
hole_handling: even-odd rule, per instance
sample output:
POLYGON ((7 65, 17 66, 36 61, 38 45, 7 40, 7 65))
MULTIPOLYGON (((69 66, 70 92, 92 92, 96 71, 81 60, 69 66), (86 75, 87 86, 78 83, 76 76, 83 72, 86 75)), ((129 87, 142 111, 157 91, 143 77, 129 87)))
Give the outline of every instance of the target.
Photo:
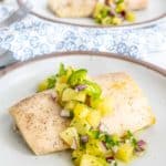
POLYGON ((10 108, 21 135, 37 155, 66 149, 60 138, 69 123, 60 116, 60 106, 55 103, 53 91, 37 93, 10 108))

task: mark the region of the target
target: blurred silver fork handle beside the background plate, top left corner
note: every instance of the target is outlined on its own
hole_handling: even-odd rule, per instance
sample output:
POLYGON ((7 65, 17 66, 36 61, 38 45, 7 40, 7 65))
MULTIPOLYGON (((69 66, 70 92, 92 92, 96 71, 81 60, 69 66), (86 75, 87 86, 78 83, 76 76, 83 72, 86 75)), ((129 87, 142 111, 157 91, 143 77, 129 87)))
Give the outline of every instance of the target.
POLYGON ((9 18, 4 19, 2 22, 0 22, 0 29, 8 28, 13 22, 21 21, 24 19, 28 13, 31 11, 32 6, 28 2, 28 0, 20 6, 18 10, 12 12, 9 18))

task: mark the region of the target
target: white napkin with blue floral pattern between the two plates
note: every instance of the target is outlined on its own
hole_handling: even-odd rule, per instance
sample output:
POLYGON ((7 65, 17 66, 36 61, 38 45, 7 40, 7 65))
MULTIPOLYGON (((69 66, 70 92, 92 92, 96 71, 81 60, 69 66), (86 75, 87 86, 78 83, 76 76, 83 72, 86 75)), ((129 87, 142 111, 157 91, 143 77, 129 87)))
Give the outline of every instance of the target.
MULTIPOLYGON (((0 20, 12 10, 0 6, 0 20)), ((146 28, 93 29, 52 23, 29 14, 9 29, 0 30, 0 46, 12 51, 21 61, 44 53, 77 50, 146 59, 154 52, 166 53, 166 19, 146 28)))

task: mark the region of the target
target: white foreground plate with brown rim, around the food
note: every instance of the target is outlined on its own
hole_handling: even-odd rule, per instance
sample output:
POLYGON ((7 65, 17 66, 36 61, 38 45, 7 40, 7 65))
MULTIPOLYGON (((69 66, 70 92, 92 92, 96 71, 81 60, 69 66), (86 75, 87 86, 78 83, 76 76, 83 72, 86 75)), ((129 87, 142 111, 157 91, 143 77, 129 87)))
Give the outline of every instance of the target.
MULTIPOLYGON (((21 137, 12 131, 8 107, 35 92, 37 84, 58 71, 60 62, 86 68, 91 75, 125 71, 143 89, 157 117, 157 124, 142 135, 148 142, 147 153, 131 166, 165 166, 166 164, 166 71, 143 62, 114 58, 112 54, 66 53, 50 55, 8 69, 0 77, 0 165, 1 166, 72 166, 68 153, 34 156, 21 137), (61 54, 62 55, 62 54, 61 54), (129 62, 131 61, 131 62, 129 62), (133 61, 133 62, 132 62, 133 61), (139 63, 139 64, 138 64, 139 63), (146 65, 146 66, 143 66, 146 65), (147 68, 152 68, 147 69, 147 68), (158 72, 156 72, 156 71, 158 72)), ((0 74, 4 73, 2 71, 0 74)))

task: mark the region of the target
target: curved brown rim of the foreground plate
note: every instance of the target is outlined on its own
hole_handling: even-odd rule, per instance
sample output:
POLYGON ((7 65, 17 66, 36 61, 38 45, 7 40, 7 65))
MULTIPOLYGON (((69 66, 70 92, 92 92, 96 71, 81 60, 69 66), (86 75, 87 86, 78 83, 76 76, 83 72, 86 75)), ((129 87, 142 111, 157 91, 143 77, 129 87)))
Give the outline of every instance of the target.
POLYGON ((166 76, 166 70, 162 69, 159 66, 156 66, 152 63, 142 61, 142 60, 137 60, 134 58, 129 58, 126 55, 122 55, 122 54, 115 54, 115 53, 106 53, 106 52, 91 52, 91 51, 70 51, 70 52, 55 52, 55 53, 50 53, 50 54, 44 54, 42 56, 38 56, 34 59, 31 59, 29 61, 25 62, 18 62, 13 65, 10 65, 8 68, 6 68, 4 70, 0 71, 0 77, 6 75, 7 73, 9 73, 12 70, 15 70, 20 66, 23 66, 25 64, 32 63, 32 62, 37 62, 37 61, 41 61, 41 60, 45 60, 45 59, 51 59, 51 58, 65 58, 65 56, 73 56, 73 55, 82 55, 82 56, 104 56, 104 58, 108 58, 108 59, 117 59, 117 60, 122 60, 122 61, 127 61, 127 62, 132 62, 134 64, 138 64, 141 66, 144 66, 146 69, 149 69, 154 72, 159 73, 163 76, 166 76))

